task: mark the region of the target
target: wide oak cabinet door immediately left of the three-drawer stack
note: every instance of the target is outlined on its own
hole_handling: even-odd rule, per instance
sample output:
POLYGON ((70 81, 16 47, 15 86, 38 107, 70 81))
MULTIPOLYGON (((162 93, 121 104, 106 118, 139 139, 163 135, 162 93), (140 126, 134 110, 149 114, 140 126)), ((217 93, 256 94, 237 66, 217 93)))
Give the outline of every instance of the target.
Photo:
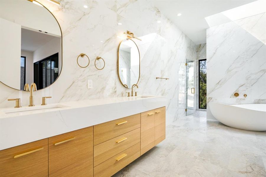
POLYGON ((93 176, 93 126, 48 140, 49 177, 93 176))

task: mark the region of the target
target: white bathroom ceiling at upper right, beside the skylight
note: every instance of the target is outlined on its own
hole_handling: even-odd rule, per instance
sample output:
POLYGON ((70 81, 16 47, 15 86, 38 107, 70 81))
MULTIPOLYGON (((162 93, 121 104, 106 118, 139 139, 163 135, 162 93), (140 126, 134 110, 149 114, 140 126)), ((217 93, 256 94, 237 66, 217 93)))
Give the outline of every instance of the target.
POLYGON ((217 14, 255 0, 159 0, 154 4, 195 44, 206 42, 205 17, 217 14), (181 16, 177 16, 181 13, 181 16))

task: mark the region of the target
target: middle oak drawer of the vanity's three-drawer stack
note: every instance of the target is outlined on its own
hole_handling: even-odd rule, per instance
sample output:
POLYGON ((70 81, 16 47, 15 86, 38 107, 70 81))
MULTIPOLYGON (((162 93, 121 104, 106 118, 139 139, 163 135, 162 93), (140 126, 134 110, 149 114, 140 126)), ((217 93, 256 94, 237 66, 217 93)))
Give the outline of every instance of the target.
POLYGON ((141 140, 140 128, 94 146, 94 166, 137 144, 141 140))

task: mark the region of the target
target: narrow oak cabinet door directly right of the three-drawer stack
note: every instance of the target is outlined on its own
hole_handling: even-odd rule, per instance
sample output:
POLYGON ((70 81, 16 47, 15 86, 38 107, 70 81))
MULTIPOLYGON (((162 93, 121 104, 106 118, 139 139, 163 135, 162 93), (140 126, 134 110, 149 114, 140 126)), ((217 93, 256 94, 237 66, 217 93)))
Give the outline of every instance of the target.
POLYGON ((154 147, 154 109, 141 113, 141 155, 154 147))

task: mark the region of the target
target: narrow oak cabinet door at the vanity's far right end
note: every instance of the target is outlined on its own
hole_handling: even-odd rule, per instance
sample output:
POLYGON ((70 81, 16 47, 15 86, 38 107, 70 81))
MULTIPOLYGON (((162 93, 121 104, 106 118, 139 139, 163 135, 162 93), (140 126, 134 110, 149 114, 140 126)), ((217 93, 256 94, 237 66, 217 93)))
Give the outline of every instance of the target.
POLYGON ((165 139, 165 107, 155 109, 154 146, 165 139))

